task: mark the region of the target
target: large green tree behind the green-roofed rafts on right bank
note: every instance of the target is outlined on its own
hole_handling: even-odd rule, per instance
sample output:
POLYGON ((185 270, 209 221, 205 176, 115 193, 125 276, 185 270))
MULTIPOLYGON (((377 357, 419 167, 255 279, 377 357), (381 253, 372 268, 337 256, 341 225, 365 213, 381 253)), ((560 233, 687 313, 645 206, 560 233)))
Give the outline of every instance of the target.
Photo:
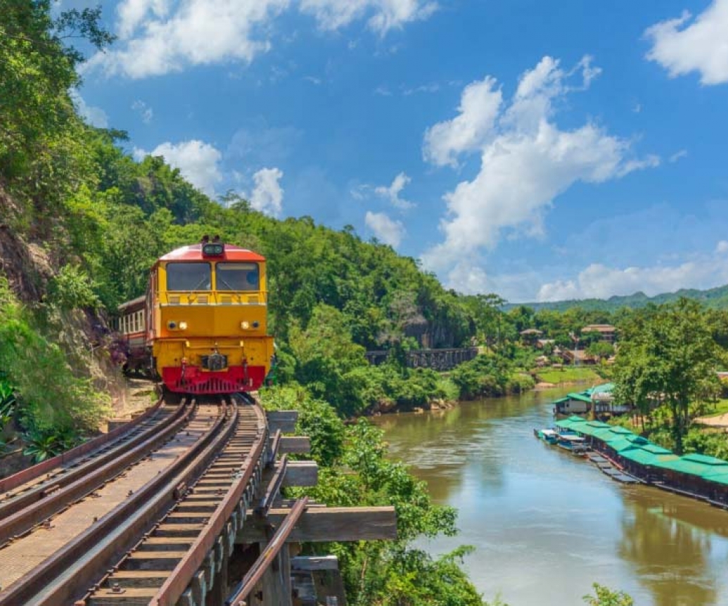
POLYGON ((716 367, 725 352, 713 340, 700 304, 674 304, 635 312, 622 325, 614 366, 615 395, 649 412, 659 401, 668 409, 676 452, 690 424, 690 404, 703 399, 705 385, 717 384, 716 367))

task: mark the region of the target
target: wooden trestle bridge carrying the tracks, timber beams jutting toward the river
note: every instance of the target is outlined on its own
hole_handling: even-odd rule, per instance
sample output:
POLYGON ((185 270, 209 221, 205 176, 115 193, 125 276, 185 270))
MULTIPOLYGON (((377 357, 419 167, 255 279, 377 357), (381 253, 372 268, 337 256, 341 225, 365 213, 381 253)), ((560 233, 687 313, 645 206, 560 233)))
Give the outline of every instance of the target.
POLYGON ((292 557, 298 543, 395 538, 392 507, 282 498, 317 483, 315 463, 288 460, 310 449, 284 435, 296 417, 242 397, 160 400, 0 479, 0 606, 290 606, 292 568, 337 570, 292 557))

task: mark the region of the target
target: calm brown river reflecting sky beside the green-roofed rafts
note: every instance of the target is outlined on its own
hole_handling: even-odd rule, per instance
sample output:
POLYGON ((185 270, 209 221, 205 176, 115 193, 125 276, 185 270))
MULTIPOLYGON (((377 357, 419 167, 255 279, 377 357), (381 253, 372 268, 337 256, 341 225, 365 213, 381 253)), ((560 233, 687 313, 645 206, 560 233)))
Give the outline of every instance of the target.
POLYGON ((390 455, 459 511, 459 545, 490 600, 578 606, 596 581, 636 606, 728 606, 728 511, 654 487, 624 487, 587 460, 534 437, 565 390, 379 417, 390 455))

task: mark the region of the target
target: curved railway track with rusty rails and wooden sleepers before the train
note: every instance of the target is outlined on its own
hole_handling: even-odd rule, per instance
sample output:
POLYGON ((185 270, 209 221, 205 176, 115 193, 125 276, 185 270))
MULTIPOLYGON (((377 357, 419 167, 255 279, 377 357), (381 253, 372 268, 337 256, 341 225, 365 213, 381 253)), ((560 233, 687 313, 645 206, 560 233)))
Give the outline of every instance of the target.
POLYGON ((0 522, 10 536, 0 548, 1 606, 174 605, 209 591, 214 571, 199 571, 231 553, 268 460, 268 433, 259 406, 180 409, 167 428, 176 433, 156 436, 153 454, 130 455, 150 440, 119 445, 116 459, 133 462, 114 479, 99 463, 81 497, 71 481, 0 522), (49 505, 57 494, 66 496, 49 505), (28 530, 10 534, 17 524, 28 530))

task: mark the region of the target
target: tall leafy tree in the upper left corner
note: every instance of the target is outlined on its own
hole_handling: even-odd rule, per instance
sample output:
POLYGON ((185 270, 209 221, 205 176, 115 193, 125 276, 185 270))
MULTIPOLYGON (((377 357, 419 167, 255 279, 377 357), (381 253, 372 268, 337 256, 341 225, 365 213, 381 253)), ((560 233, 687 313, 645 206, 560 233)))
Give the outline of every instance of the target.
POLYGON ((46 205, 74 189, 84 164, 82 123, 68 92, 83 56, 66 43, 83 38, 103 49, 113 40, 99 25, 100 8, 54 19, 51 4, 0 0, 0 177, 46 205))

